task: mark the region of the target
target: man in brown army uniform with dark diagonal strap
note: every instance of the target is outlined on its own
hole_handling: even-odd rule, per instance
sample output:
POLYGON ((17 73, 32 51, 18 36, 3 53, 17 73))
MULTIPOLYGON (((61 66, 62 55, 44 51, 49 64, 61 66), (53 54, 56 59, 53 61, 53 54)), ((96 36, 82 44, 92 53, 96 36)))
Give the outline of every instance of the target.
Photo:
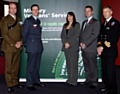
POLYGON ((1 23, 2 51, 5 53, 5 80, 8 92, 14 92, 15 86, 22 88, 18 75, 22 50, 22 21, 16 16, 16 12, 16 4, 10 3, 9 14, 2 19, 1 23))

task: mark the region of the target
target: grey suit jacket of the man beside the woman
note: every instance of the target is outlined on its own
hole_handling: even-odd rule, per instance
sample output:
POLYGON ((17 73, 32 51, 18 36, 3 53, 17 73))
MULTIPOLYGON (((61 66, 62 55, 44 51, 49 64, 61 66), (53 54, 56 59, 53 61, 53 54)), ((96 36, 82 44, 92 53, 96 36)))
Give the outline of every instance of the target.
POLYGON ((84 23, 85 21, 82 23, 80 43, 84 43, 86 48, 82 50, 86 52, 97 52, 97 38, 100 31, 100 23, 95 18, 92 18, 83 30, 84 23))

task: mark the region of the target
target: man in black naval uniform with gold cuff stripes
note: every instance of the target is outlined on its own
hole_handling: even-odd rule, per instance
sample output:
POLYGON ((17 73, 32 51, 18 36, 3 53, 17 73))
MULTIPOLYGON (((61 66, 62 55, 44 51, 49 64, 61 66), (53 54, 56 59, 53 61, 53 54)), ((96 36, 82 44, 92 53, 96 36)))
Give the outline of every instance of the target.
POLYGON ((118 55, 120 23, 112 17, 112 13, 110 6, 103 8, 105 21, 98 39, 98 54, 102 57, 102 81, 105 84, 101 91, 108 91, 107 94, 117 94, 115 60, 118 55))

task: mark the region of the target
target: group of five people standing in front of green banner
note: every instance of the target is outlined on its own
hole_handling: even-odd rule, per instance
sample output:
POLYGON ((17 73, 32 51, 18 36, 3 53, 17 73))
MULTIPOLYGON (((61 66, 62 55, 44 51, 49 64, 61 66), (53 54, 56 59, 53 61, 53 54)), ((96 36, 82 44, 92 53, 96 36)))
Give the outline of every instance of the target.
MULTIPOLYGON (((22 88, 18 83, 19 61, 22 45, 26 47, 27 67, 26 85, 29 90, 36 90, 34 85, 44 86, 40 82, 39 69, 43 52, 41 40, 42 28, 38 19, 39 6, 31 6, 32 15, 26 18, 22 26, 20 18, 16 17, 16 5, 10 3, 9 14, 2 23, 2 50, 5 53, 5 79, 8 92, 13 92, 13 87, 22 88)), ((85 7, 86 20, 80 28, 75 14, 68 12, 66 23, 61 32, 62 51, 66 57, 68 73, 67 85, 76 86, 78 79, 79 47, 82 51, 86 80, 81 85, 90 84, 90 88, 98 86, 97 54, 102 61, 102 81, 105 87, 101 91, 108 94, 117 94, 115 72, 115 59, 117 57, 117 42, 120 35, 120 23, 112 17, 112 8, 103 8, 105 22, 100 22, 93 17, 92 6, 85 7), (106 22, 107 21, 107 22, 106 22)))

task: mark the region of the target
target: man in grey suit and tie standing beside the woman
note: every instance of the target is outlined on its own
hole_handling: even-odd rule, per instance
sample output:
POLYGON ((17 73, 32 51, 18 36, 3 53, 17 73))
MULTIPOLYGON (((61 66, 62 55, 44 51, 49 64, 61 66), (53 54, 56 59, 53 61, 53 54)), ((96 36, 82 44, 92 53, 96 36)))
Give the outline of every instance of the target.
POLYGON ((90 88, 96 88, 98 86, 97 37, 99 35, 100 23, 93 17, 92 6, 85 7, 85 16, 87 20, 82 24, 80 46, 86 81, 81 84, 91 83, 90 88))

